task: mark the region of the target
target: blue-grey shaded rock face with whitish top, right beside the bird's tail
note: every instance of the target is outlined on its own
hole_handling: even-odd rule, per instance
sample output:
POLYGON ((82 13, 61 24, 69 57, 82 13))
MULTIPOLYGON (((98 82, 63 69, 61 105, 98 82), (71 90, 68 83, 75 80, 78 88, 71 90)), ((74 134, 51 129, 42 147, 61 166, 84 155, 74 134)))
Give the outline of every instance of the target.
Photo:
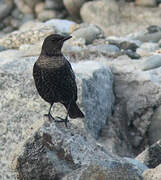
POLYGON ((98 138, 113 110, 112 73, 108 67, 92 61, 75 64, 74 70, 82 81, 79 92, 85 112, 85 127, 98 138))

